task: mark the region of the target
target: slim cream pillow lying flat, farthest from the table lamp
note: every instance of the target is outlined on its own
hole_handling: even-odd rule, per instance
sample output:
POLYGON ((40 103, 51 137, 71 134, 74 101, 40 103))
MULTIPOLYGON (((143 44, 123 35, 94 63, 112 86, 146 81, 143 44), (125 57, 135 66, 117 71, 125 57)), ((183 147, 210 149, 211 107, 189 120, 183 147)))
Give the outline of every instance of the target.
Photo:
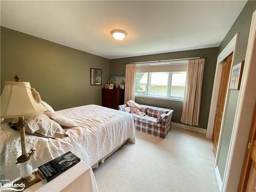
POLYGON ((48 115, 52 120, 59 123, 60 126, 65 126, 65 127, 78 126, 72 119, 65 117, 63 115, 60 115, 57 113, 51 113, 51 112, 46 112, 44 114, 48 115))

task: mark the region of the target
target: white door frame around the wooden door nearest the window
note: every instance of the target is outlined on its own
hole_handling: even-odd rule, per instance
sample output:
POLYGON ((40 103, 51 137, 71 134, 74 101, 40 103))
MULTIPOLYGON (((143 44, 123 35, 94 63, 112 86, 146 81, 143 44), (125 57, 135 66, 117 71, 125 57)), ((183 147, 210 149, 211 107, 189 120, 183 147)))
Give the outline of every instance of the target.
MULTIPOLYGON (((210 111, 209 111, 209 118, 208 118, 207 130, 206 130, 206 138, 210 139, 210 140, 211 140, 212 134, 214 133, 214 122, 215 122, 215 114, 216 114, 217 102, 218 102, 218 96, 219 96, 219 87, 220 87, 220 81, 221 81, 223 60, 225 58, 227 58, 228 55, 230 55, 233 52, 232 63, 231 63, 231 70, 232 70, 234 58, 236 58, 238 36, 239 36, 238 33, 236 35, 234 35, 234 37, 229 41, 228 45, 218 55, 216 71, 215 71, 215 78, 214 78, 214 87, 212 88, 210 111)), ((230 70, 230 72, 231 72, 231 70, 230 70)), ((229 73, 229 80, 230 80, 230 75, 231 75, 231 73, 229 73)), ((229 84, 229 80, 228 80, 228 84, 229 84)), ((229 86, 228 86, 228 88, 229 88, 229 86)), ((226 109, 227 109, 226 103, 228 101, 227 95, 230 92, 230 90, 228 88, 227 88, 226 100, 225 100, 225 104, 224 104, 221 130, 222 130, 222 126, 223 126, 223 120, 225 119, 225 115, 226 115, 226 109)), ((221 130, 220 130, 219 138, 221 138, 221 136, 222 136, 221 130)), ((220 141, 220 139, 219 139, 219 141, 220 141)), ((218 143, 218 146, 219 146, 219 143, 218 143)), ((218 154, 218 149, 217 149, 217 154, 218 154)), ((216 154, 216 157, 218 157, 217 154, 216 154)))

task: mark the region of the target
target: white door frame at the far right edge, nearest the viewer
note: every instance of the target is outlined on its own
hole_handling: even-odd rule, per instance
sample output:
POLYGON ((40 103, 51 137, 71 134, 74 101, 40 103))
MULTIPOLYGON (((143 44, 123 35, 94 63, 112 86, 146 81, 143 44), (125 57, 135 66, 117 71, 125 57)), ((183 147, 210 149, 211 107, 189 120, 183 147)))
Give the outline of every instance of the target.
POLYGON ((223 177, 222 191, 236 191, 238 189, 256 100, 254 88, 255 74, 253 74, 253 70, 256 69, 256 60, 253 60, 255 58, 252 58, 253 49, 256 49, 255 46, 256 11, 253 12, 251 19, 244 72, 238 96, 236 114, 234 117, 227 163, 223 177), (252 64, 252 61, 254 61, 254 65, 252 64))

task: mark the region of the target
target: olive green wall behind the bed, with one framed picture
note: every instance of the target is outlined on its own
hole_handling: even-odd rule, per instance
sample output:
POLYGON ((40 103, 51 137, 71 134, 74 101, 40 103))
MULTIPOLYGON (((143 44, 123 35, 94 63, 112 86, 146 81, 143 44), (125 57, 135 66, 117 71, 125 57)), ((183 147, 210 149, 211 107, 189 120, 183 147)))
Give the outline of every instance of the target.
POLYGON ((102 86, 108 82, 109 59, 1 27, 1 92, 18 74, 54 110, 101 105, 102 86, 91 86, 91 67, 102 69, 102 86))

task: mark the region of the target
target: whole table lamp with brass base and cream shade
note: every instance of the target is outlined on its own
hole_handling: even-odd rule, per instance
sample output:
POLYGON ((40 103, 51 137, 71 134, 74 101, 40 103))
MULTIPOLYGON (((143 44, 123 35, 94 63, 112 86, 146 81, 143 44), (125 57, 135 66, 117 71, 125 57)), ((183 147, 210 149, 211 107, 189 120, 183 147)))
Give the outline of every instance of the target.
POLYGON ((20 178, 15 183, 25 184, 27 188, 41 179, 29 163, 34 154, 34 150, 30 153, 26 152, 25 147, 25 116, 31 116, 46 111, 44 105, 41 104, 41 98, 35 89, 30 87, 29 82, 19 82, 18 75, 14 77, 15 81, 6 81, 4 90, 1 94, 1 118, 17 118, 16 129, 20 131, 20 142, 22 146, 22 155, 17 158, 20 164, 20 178), (33 173, 32 173, 33 172, 33 173))

